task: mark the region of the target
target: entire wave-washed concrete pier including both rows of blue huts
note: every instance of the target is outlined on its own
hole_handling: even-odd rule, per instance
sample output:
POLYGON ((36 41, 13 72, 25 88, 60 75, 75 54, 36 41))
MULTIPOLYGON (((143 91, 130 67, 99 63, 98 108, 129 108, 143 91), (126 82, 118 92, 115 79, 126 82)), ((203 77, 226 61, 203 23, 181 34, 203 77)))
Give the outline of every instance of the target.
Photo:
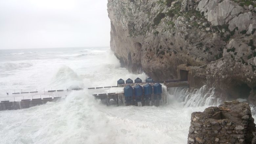
MULTIPOLYGON (((124 80, 119 79, 117 81, 117 86, 107 86, 107 87, 96 87, 96 88, 87 88, 90 92, 93 92, 93 96, 96 99, 100 99, 102 103, 106 103, 107 105, 117 104, 120 105, 136 105, 136 106, 159 106, 167 103, 167 88, 168 87, 177 87, 177 86, 187 86, 187 81, 181 80, 169 80, 163 81, 164 86, 159 83, 156 83, 152 78, 147 78, 146 83, 143 83, 140 78, 135 79, 135 83, 133 80, 128 78, 125 83, 124 80), (178 84, 178 85, 177 85, 178 84), (132 86, 134 87, 132 87, 132 86), (143 87, 142 87, 143 86, 143 87), (109 93, 101 93, 106 92, 111 88, 123 87, 122 92, 112 93, 109 90, 109 93), (103 89, 102 91, 99 89, 103 89), (94 94, 94 92, 100 92, 100 94, 94 94), (114 102, 113 102, 114 101, 114 102)), ((0 103, 0 111, 3 110, 18 110, 24 108, 30 108, 32 106, 45 104, 47 102, 57 101, 61 99, 61 96, 67 96, 72 91, 80 91, 79 89, 72 90, 49 90, 49 91, 33 91, 33 92, 15 92, 7 93, 4 97, 4 101, 0 103), (38 96, 40 95, 40 98, 38 96), (43 96, 41 98, 41 95, 43 96), (48 96, 49 97, 45 97, 48 96), (24 96, 26 98, 24 98, 24 96), (56 97, 54 97, 56 96, 56 97), (20 99, 23 97, 23 99, 20 99), (36 98, 35 98, 36 97, 36 98), (11 101, 13 98, 14 101, 11 101), (15 99, 16 98, 16 99, 15 99), (17 100, 17 98, 20 100, 17 100), (7 99, 7 100, 6 100, 7 99), (15 101, 17 100, 17 101, 15 101)))

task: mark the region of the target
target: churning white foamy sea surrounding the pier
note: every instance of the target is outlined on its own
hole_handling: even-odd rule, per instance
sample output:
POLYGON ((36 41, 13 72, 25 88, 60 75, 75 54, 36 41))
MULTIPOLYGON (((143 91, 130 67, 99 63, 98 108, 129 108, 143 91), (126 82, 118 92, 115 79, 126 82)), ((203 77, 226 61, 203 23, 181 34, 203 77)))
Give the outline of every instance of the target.
MULTIPOLYGON (((110 48, 0 50, 1 100, 10 98, 6 91, 113 86, 137 77, 147 75, 121 68, 110 48)), ((0 111, 0 143, 185 144, 191 113, 219 103, 203 87, 172 88, 160 107, 104 106, 85 89, 59 103, 0 111)))

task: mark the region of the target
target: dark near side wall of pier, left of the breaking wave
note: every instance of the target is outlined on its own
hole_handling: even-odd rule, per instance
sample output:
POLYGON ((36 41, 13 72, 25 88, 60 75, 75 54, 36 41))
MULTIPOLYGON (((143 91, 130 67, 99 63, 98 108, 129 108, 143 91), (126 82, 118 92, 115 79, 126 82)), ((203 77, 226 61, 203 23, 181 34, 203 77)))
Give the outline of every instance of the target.
POLYGON ((57 102, 62 100, 61 97, 48 97, 48 98, 36 98, 36 99, 23 99, 21 101, 1 101, 0 111, 4 110, 19 110, 30 108, 37 105, 46 104, 47 102, 57 102))

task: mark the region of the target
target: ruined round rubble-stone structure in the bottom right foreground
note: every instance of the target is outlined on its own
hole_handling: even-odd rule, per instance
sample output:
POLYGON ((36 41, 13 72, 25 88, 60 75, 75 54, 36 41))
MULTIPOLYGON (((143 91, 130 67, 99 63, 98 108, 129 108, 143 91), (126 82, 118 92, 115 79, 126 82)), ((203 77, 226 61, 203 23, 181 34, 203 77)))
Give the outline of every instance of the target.
POLYGON ((248 103, 224 102, 191 114, 188 144, 255 144, 255 130, 248 103))

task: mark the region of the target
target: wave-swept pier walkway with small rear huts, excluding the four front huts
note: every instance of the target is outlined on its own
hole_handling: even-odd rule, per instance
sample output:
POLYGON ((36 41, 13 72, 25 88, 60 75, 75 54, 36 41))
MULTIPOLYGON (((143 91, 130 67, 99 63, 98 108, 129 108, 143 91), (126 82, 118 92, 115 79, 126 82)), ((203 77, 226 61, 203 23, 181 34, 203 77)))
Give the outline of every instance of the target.
MULTIPOLYGON (((162 83, 167 88, 170 87, 186 87, 189 86, 188 81, 181 80, 165 80, 165 81, 146 81, 142 82, 141 79, 137 78, 137 82, 134 83, 131 79, 128 83, 126 80, 126 84, 123 82, 122 84, 117 83, 117 86, 106 86, 106 87, 92 87, 86 88, 89 94, 92 94, 95 99, 106 100, 106 103, 109 104, 109 101, 113 99, 116 104, 119 106, 120 102, 124 103, 124 87, 130 85, 131 87, 136 85, 146 85, 150 84, 153 86, 156 83, 162 83), (139 80, 139 82, 138 82, 139 80)), ((148 79, 147 79, 148 80, 148 79)), ((118 80, 119 81, 119 80, 118 80)), ((29 108, 35 105, 45 104, 46 102, 51 101, 59 101, 61 99, 65 99, 67 95, 69 95, 73 91, 82 91, 83 88, 77 89, 62 89, 62 90, 47 90, 45 91, 26 91, 26 90, 13 90, 7 91, 6 93, 0 93, 0 111, 1 110, 16 110, 22 108, 29 108)))

